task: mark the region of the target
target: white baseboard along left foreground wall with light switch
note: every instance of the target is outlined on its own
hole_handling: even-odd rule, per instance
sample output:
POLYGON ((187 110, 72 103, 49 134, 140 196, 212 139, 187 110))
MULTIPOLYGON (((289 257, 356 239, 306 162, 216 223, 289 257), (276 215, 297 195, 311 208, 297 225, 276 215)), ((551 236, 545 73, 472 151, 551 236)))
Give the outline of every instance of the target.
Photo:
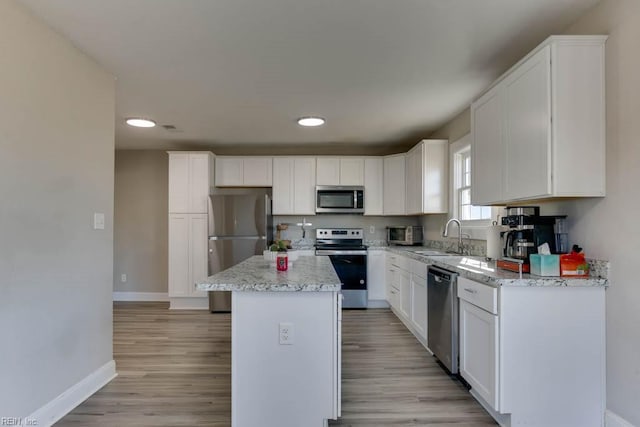
POLYGON ((58 397, 36 410, 26 419, 33 420, 39 427, 51 426, 117 375, 116 362, 111 360, 63 391, 58 397))

